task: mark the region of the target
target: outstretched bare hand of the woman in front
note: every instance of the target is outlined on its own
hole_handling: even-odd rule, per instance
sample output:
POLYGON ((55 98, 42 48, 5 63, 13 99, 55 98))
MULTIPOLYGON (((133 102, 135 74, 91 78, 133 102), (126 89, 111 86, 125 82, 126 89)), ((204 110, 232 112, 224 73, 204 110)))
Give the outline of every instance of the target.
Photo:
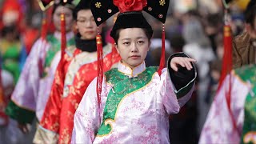
POLYGON ((178 65, 182 67, 186 67, 187 70, 192 70, 193 66, 191 62, 196 62, 193 58, 186 58, 186 57, 174 57, 170 61, 170 67, 174 71, 178 71, 178 65))

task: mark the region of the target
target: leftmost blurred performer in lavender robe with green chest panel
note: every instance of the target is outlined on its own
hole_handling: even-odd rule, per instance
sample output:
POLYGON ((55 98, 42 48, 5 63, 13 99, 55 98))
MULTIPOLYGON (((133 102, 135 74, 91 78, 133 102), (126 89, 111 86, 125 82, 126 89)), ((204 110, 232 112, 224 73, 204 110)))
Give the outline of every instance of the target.
MULTIPOLYGON (((47 7, 54 3, 53 21, 56 31, 54 34, 42 36, 34 43, 18 83, 11 96, 11 102, 6 107, 6 114, 19 123, 22 132, 27 132, 28 123, 33 122, 34 116, 41 120, 50 88, 54 81, 54 73, 61 56, 61 14, 66 16, 67 47, 74 46, 74 23, 72 3, 60 1, 42 1, 47 7)), ((44 33, 42 31, 42 35, 44 33)), ((69 50, 69 48, 67 48, 69 50)))

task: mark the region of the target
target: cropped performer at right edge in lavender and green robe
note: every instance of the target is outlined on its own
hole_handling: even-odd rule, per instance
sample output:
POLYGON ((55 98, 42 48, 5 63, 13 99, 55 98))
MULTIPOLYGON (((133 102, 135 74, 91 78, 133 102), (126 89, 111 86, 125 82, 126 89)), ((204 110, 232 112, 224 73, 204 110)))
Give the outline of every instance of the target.
MULTIPOLYGON (((255 10, 255 1, 250 1, 248 6, 253 6, 251 10, 255 10)), ((225 41, 231 36, 230 27, 225 26, 226 54, 224 53, 222 66, 232 66, 232 57, 225 57, 232 53, 230 40, 225 41)), ((256 66, 247 65, 231 72, 226 69, 224 71, 226 77, 220 79, 220 86, 210 107, 199 143, 255 143, 256 66)))

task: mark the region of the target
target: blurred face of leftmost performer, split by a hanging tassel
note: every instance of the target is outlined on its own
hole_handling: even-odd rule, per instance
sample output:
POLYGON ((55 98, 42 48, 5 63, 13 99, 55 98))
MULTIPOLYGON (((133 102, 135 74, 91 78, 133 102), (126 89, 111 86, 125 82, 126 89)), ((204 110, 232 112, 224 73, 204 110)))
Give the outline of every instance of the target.
POLYGON ((72 30, 72 26, 74 24, 74 19, 72 15, 72 10, 65 6, 58 6, 54 11, 54 26, 56 30, 61 31, 61 14, 65 14, 66 21, 66 31, 69 32, 72 30))

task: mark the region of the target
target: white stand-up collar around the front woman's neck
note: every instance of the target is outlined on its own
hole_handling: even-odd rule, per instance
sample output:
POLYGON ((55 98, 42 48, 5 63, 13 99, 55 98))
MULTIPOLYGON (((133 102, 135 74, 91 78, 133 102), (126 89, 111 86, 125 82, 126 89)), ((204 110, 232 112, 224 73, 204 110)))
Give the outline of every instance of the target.
POLYGON ((125 75, 128 75, 129 78, 137 77, 138 74, 142 74, 144 70, 146 70, 145 62, 142 62, 142 64, 134 67, 134 69, 131 69, 129 66, 126 66, 121 61, 118 63, 118 71, 125 75))

